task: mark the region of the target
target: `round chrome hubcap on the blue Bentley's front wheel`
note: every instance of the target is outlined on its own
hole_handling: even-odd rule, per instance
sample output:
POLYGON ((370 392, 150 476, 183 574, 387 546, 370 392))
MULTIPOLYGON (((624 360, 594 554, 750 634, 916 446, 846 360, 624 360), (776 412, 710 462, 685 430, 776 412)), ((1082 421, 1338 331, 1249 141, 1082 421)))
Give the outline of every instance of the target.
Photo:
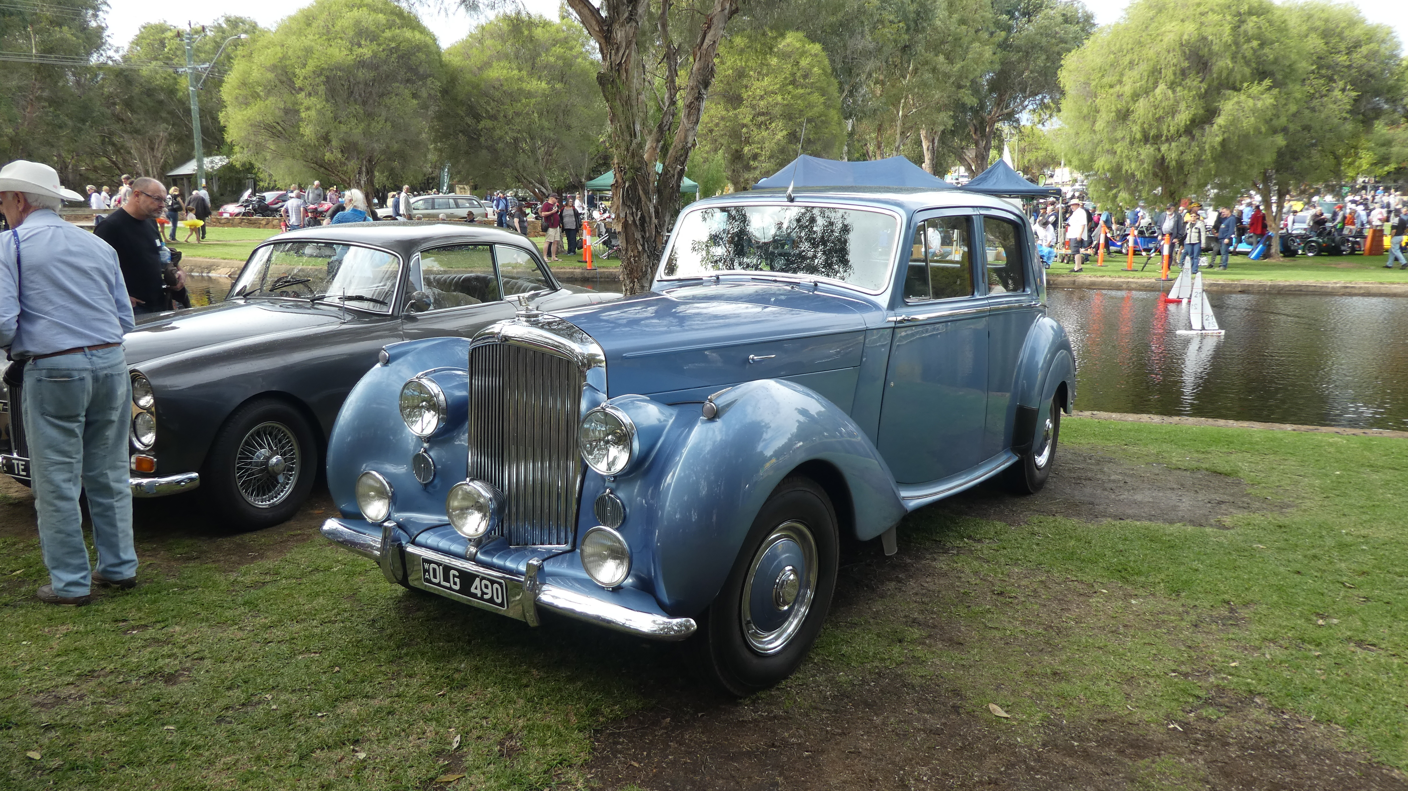
POLYGON ((803 522, 784 522, 763 539, 743 583, 743 638, 774 654, 801 629, 817 590, 817 542, 803 522))

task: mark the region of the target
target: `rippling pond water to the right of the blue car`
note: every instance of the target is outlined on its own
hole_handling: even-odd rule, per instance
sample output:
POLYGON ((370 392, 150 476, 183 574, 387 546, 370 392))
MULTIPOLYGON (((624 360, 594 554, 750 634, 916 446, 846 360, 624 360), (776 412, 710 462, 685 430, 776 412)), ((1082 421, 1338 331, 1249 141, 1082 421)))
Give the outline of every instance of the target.
POLYGON ((1408 429, 1408 300, 1209 294, 1226 335, 1178 335, 1152 291, 1052 289, 1083 410, 1408 429))

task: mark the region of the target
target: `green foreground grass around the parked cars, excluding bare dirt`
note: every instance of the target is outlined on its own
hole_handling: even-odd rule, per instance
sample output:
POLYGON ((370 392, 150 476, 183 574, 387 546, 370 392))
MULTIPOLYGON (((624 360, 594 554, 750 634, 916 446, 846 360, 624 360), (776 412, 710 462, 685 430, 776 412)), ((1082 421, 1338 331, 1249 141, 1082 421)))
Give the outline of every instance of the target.
MULTIPOLYGON (((1212 526, 1011 525, 925 508, 901 525, 900 557, 946 577, 843 578, 838 597, 870 602, 869 615, 838 609, 797 677, 755 700, 807 705, 817 690, 873 694, 877 677, 938 678, 984 726, 1029 743, 1067 719, 1191 729, 1222 716, 1219 701, 1255 697, 1408 770, 1408 442, 1091 419, 1067 419, 1062 442, 1108 456, 1111 479, 1136 464, 1207 470, 1245 480, 1231 486, 1266 507, 1212 526), (935 639, 934 622, 966 636, 935 639)), ((142 586, 44 605, 32 505, 6 491, 10 787, 577 787, 597 729, 697 695, 673 649, 562 622, 529 629, 389 584, 315 538, 325 495, 291 526, 242 536, 189 502, 144 504, 142 586)))

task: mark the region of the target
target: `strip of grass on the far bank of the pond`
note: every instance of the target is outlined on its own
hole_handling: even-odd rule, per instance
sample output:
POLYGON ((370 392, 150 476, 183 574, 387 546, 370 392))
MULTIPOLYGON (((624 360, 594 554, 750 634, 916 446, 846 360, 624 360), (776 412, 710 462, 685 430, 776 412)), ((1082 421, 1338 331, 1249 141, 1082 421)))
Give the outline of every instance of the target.
MULTIPOLYGON (((1205 259, 1207 256, 1204 256, 1205 259)), ((1135 255, 1135 270, 1125 269, 1128 258, 1124 255, 1107 255, 1105 266, 1095 266, 1095 258, 1086 260, 1081 274, 1108 277, 1150 277, 1160 274, 1162 259, 1153 258, 1149 266, 1143 267, 1143 256, 1135 255)), ((1218 258, 1221 262, 1221 256, 1218 258)), ((1281 262, 1250 260, 1243 256, 1228 259, 1228 270, 1202 267, 1204 279, 1212 280, 1347 280, 1357 283, 1408 283, 1408 272, 1398 267, 1384 269, 1388 263, 1387 255, 1380 256, 1295 256, 1281 262)), ((1070 265, 1052 263, 1048 270, 1052 277, 1070 273, 1070 265)), ((1170 277, 1177 277, 1177 262, 1170 265, 1170 277)))

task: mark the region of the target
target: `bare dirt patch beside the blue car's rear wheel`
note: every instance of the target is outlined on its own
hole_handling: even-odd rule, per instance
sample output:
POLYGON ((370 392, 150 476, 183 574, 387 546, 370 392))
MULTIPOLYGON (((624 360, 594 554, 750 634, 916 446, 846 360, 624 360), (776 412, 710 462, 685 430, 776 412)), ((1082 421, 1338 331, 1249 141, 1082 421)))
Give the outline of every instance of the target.
POLYGON ((1062 448, 1046 488, 1038 497, 1011 497, 995 484, 980 486, 942 504, 942 508, 1010 525, 1029 517, 1066 517, 1084 522, 1138 519, 1224 526, 1233 514, 1284 508, 1247 494, 1240 479, 1163 464, 1133 464, 1084 448, 1062 448))

